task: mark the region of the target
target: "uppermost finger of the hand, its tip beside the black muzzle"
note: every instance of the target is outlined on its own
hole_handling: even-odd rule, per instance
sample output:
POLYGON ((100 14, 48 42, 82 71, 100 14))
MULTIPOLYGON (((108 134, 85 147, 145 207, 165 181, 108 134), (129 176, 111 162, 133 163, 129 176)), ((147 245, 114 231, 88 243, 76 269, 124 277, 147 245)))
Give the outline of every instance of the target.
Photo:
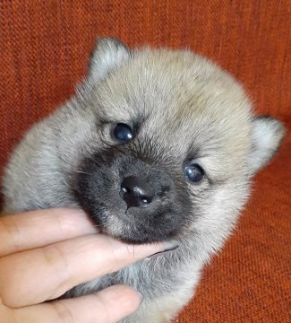
POLYGON ((0 257, 97 232, 81 210, 48 209, 0 218, 0 257))

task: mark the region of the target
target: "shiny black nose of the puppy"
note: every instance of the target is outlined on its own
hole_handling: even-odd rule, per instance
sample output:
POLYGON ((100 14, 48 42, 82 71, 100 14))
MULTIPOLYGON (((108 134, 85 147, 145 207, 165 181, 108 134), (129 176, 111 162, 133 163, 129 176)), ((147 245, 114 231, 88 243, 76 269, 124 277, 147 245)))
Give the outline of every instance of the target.
POLYGON ((120 196, 126 202, 128 208, 133 206, 145 206, 151 203, 155 191, 145 180, 129 176, 121 183, 120 196))

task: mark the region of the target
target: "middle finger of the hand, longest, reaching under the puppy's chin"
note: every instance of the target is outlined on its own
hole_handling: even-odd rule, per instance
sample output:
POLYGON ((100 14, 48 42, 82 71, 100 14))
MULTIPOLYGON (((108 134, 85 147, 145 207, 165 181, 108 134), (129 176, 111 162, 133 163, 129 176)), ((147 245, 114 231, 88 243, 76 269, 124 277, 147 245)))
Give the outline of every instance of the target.
POLYGON ((116 272, 165 249, 90 235, 0 259, 0 296, 12 308, 55 299, 77 284, 116 272))

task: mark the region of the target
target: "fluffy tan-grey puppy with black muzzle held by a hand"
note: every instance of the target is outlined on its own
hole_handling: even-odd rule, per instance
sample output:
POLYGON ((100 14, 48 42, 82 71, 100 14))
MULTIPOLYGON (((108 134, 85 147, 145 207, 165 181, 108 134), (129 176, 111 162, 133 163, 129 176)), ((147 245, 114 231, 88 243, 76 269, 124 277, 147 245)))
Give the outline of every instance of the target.
POLYGON ((171 241, 178 248, 65 295, 129 284, 143 302, 122 322, 169 322, 284 134, 276 119, 255 117, 242 86, 209 60, 99 39, 73 98, 14 151, 4 214, 78 207, 116 239, 171 241))

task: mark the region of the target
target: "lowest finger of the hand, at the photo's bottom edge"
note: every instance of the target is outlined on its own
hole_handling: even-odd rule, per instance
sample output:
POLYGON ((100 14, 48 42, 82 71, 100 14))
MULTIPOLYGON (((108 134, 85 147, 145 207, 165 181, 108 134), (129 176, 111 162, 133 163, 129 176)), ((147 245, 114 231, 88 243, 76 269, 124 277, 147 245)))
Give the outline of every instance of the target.
POLYGON ((112 286, 104 291, 64 301, 52 301, 13 311, 16 322, 114 323, 136 310, 140 296, 129 286, 112 286))

